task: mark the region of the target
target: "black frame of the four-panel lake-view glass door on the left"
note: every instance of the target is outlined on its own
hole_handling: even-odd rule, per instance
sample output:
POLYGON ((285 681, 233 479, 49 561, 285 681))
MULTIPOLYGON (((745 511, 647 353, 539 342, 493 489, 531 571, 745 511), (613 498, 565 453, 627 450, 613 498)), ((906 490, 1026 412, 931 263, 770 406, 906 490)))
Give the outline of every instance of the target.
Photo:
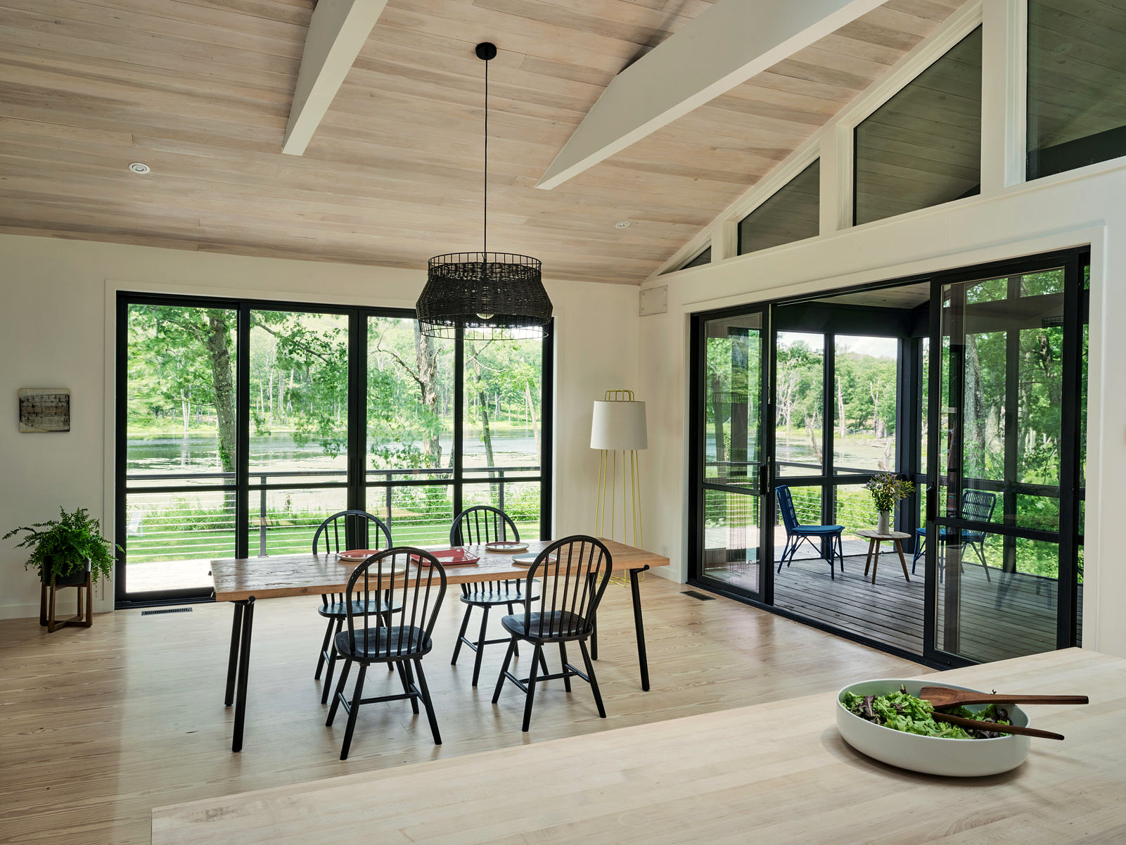
MULTIPOLYGON (((129 492, 234 492, 235 495, 235 555, 249 554, 249 514, 250 492, 262 489, 343 489, 346 490, 349 509, 365 509, 367 505, 367 488, 411 486, 419 481, 370 481, 366 472, 367 448, 367 320, 370 317, 387 317, 413 319, 414 311, 410 309, 368 308, 348 305, 322 305, 311 302, 288 302, 280 300, 226 299, 221 296, 193 296, 182 294, 153 294, 118 291, 116 302, 117 324, 115 338, 116 358, 114 362, 115 380, 115 413, 114 413, 114 525, 116 542, 127 546, 126 498, 129 492), (128 418, 128 309, 129 305, 170 305, 181 308, 207 308, 233 311, 238 315, 235 328, 235 417, 238 419, 238 445, 235 455, 234 483, 189 484, 177 487, 148 488, 128 487, 126 457, 128 435, 126 420, 128 418), (302 313, 342 314, 348 318, 348 468, 346 481, 323 481, 314 483, 292 484, 250 484, 250 312, 251 311, 286 311, 302 313)), ((453 490, 454 514, 461 513, 462 493, 466 484, 495 483, 495 479, 464 478, 462 464, 463 422, 464 422, 464 339, 458 333, 454 341, 457 365, 454 370, 454 466, 449 477, 453 490)), ((539 483, 539 532, 542 539, 551 537, 552 531, 552 444, 554 434, 554 322, 548 324, 544 338, 542 357, 540 388, 540 463, 536 475, 516 475, 504 478, 509 482, 539 483)), ((310 541, 312 542, 312 541, 310 541)), ((184 604, 191 602, 214 601, 211 587, 153 590, 149 593, 128 593, 126 589, 126 552, 118 552, 114 573, 114 597, 116 607, 149 606, 162 604, 184 604)))

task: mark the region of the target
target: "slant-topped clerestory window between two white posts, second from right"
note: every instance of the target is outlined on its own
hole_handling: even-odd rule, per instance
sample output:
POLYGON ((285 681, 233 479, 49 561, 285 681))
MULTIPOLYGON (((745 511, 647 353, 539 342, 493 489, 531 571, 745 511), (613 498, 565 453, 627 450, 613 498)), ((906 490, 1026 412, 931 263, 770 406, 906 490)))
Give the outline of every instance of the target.
POLYGON ((856 127, 854 222, 981 193, 982 30, 856 127))

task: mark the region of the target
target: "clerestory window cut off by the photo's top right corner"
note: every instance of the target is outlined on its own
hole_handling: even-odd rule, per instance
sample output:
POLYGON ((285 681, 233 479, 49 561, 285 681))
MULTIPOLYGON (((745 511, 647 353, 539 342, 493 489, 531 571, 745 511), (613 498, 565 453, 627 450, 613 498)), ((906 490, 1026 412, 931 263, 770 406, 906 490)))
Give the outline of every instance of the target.
POLYGON ((1126 155, 1126 0, 1028 2, 1028 178, 1126 155))

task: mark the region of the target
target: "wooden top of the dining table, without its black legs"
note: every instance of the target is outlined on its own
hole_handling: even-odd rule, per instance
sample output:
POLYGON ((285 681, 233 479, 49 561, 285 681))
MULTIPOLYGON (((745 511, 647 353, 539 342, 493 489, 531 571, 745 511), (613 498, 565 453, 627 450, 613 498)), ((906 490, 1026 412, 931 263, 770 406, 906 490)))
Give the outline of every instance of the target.
MULTIPOLYGON (((528 553, 538 552, 551 542, 553 541, 529 540, 528 553)), ((602 542, 610 552, 615 571, 669 564, 669 559, 660 554, 624 545, 614 540, 604 539, 602 542)), ((480 555, 481 560, 471 567, 446 567, 446 579, 449 584, 503 581, 510 578, 526 578, 528 575, 528 567, 513 563, 511 554, 490 552, 483 545, 465 548, 480 555)), ((226 558, 211 562, 217 602, 240 602, 250 596, 258 599, 339 593, 348 584, 348 577, 356 566, 337 560, 336 554, 312 552, 268 558, 226 558)))

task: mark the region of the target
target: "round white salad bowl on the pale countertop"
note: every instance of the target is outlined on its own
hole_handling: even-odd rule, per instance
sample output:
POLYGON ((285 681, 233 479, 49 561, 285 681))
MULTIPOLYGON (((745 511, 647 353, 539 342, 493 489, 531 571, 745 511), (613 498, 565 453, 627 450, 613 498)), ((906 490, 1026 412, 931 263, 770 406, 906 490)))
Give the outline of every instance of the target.
MULTIPOLYGON (((1008 772, 1025 762, 1030 746, 1028 737, 1015 733, 995 739, 923 737, 869 722, 867 719, 850 713, 842 703, 846 693, 861 696, 886 695, 899 692, 901 685, 906 688, 909 695, 918 696, 923 686, 933 686, 935 683, 933 681, 877 678, 849 684, 837 694, 837 728, 840 730, 841 737, 861 754, 874 757, 882 763, 926 774, 980 777, 1008 772)), ((955 684, 944 683, 941 686, 948 686, 951 690, 971 690, 968 686, 955 684)), ((977 711, 982 706, 971 704, 967 705, 967 709, 977 711)), ((1015 704, 1006 706, 1009 711, 1009 720, 1013 724, 1028 726, 1028 714, 1025 711, 1015 704)))

